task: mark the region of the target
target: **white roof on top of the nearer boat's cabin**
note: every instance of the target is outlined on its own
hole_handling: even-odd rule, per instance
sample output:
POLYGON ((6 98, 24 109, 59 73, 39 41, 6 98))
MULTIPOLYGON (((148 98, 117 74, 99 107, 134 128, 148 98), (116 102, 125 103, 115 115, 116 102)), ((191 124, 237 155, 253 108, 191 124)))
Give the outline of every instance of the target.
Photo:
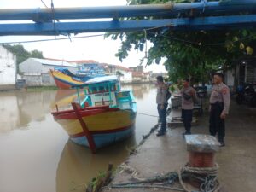
POLYGON ((73 88, 83 88, 85 86, 88 86, 89 84, 104 84, 104 83, 110 83, 110 82, 118 82, 118 77, 116 75, 106 75, 102 77, 96 77, 89 79, 84 84, 78 84, 73 85, 73 88))

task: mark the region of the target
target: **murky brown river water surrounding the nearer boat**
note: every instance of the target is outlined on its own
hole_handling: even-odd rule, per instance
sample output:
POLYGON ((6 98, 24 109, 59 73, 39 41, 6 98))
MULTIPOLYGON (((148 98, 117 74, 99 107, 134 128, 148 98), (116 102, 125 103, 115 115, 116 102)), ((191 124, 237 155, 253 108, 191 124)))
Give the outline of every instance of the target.
POLYGON ((125 85, 137 101, 134 135, 124 142, 102 148, 96 154, 68 140, 50 112, 69 108, 73 90, 0 92, 0 192, 84 191, 84 184, 109 162, 119 166, 127 148, 139 143, 156 124, 153 84, 125 85))

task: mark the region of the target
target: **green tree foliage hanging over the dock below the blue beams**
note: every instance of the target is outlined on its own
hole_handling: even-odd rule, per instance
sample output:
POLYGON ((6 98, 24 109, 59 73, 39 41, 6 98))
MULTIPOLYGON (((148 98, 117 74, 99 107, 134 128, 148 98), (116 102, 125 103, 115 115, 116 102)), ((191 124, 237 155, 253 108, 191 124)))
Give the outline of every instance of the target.
MULTIPOLYGON (((129 4, 166 3, 166 0, 131 0, 129 4)), ((191 1, 172 0, 172 3, 191 1)), ((127 20, 137 20, 128 18, 127 20)), ((148 18, 151 19, 151 18, 148 18)), ((109 34, 108 34, 109 36, 109 34)), ((116 56, 122 61, 131 49, 145 51, 147 41, 153 43, 148 49, 147 65, 164 65, 171 80, 189 77, 194 81, 207 81, 212 71, 232 67, 233 61, 253 55, 255 32, 253 30, 221 31, 173 31, 171 27, 151 29, 147 32, 119 32, 112 34, 113 40, 122 40, 116 56)), ((146 50, 147 51, 147 50, 146 50)))

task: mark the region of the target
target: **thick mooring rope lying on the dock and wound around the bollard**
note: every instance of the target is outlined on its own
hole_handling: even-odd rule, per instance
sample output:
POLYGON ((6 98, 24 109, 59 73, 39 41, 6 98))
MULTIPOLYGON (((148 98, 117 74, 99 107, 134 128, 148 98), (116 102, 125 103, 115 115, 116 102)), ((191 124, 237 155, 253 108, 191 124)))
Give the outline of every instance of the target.
POLYGON ((155 177, 148 178, 137 177, 139 172, 135 168, 127 166, 125 163, 121 164, 119 167, 122 169, 121 172, 131 172, 131 177, 137 179, 137 181, 113 183, 109 186, 110 188, 162 188, 192 192, 192 190, 189 190, 184 185, 183 177, 194 177, 202 182, 199 188, 201 192, 218 192, 220 189, 220 184, 217 179, 218 164, 215 164, 212 167, 191 167, 186 164, 181 168, 179 173, 167 172, 165 175, 157 175, 155 177), (177 180, 177 178, 183 189, 170 186, 177 180))

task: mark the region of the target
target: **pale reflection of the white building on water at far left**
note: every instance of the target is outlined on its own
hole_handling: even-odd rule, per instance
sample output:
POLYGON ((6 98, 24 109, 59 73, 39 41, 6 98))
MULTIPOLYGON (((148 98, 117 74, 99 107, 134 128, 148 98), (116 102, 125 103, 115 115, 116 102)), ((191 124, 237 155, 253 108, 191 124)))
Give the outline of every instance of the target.
POLYGON ((0 94, 0 133, 24 129, 33 121, 43 121, 49 113, 53 91, 8 91, 0 94))

